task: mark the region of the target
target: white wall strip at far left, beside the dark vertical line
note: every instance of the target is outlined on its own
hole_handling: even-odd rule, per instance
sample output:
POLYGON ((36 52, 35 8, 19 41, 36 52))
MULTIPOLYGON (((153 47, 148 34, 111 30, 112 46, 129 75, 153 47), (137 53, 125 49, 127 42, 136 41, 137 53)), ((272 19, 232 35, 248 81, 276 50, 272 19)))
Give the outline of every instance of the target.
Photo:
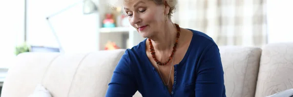
POLYGON ((15 46, 24 40, 24 0, 0 0, 0 67, 15 59, 15 46))

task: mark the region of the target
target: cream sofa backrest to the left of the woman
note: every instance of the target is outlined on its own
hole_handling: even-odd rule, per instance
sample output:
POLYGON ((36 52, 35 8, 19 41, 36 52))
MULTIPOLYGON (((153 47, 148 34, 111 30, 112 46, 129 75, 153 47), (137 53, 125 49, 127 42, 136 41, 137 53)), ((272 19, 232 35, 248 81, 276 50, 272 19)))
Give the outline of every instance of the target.
POLYGON ((1 97, 27 97, 42 84, 53 97, 105 97, 124 49, 87 54, 22 53, 1 97))

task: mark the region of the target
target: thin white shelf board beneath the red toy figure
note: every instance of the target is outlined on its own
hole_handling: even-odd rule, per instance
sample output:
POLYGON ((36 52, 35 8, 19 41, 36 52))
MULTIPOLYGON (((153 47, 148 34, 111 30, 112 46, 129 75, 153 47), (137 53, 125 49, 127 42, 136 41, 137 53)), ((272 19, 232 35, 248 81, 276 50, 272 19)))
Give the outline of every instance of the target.
POLYGON ((135 31, 134 28, 130 27, 114 27, 114 28, 100 28, 100 33, 115 33, 115 32, 124 32, 128 33, 130 30, 135 31))

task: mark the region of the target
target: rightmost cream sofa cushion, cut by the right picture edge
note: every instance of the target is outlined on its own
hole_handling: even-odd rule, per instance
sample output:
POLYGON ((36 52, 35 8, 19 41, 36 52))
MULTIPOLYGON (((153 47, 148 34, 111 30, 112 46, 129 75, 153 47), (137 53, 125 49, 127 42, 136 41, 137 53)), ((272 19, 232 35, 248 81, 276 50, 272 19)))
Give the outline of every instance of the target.
POLYGON ((255 97, 266 97, 293 88, 293 43, 264 46, 255 97))

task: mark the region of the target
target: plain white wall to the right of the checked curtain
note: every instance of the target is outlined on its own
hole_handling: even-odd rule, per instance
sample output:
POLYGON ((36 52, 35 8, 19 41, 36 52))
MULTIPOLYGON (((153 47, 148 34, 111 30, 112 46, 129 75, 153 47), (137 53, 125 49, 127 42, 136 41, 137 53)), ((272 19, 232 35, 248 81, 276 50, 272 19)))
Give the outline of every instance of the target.
POLYGON ((268 0, 268 42, 293 42, 293 0, 268 0))

